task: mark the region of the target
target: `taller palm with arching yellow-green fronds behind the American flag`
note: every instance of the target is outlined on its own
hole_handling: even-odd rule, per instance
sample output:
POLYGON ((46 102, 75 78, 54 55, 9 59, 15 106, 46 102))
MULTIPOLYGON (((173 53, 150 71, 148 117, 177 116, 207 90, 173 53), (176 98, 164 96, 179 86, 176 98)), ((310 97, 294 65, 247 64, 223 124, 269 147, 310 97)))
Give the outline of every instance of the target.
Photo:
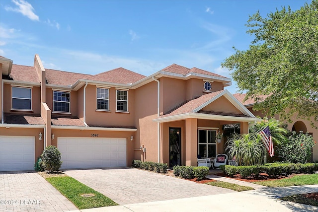
POLYGON ((275 118, 268 119, 266 116, 262 121, 257 122, 256 124, 249 127, 250 133, 256 133, 265 125, 268 125, 272 141, 274 145, 281 146, 288 141, 288 130, 285 128, 284 124, 276 120, 275 118))

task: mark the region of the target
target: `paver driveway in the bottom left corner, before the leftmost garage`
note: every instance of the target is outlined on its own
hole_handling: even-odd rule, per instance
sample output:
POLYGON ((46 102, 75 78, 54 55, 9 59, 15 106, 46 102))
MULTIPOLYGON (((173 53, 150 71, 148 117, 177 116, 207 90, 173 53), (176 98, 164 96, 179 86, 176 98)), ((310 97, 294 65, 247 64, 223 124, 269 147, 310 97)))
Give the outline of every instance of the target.
POLYGON ((78 210, 36 172, 0 172, 1 212, 78 210))

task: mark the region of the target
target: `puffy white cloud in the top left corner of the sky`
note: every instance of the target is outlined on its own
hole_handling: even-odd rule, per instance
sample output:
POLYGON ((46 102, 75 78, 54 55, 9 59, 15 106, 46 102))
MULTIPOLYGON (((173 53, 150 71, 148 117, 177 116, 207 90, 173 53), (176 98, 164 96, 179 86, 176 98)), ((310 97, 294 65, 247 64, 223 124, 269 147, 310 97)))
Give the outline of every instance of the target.
POLYGON ((6 6, 5 7, 5 10, 6 11, 13 11, 13 12, 19 12, 21 13, 22 15, 30 18, 31 20, 34 20, 34 21, 39 21, 39 16, 37 16, 33 10, 33 6, 25 1, 25 0, 12 0, 12 2, 17 5, 17 7, 10 7, 10 6, 6 6))

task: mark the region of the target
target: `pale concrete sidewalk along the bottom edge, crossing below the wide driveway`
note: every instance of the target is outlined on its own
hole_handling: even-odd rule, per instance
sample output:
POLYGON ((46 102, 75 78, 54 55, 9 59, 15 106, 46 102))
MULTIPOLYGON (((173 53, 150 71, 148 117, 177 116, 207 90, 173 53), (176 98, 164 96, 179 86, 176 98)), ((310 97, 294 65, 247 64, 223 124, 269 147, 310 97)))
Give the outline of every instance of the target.
MULTIPOLYGON (((301 190, 301 188, 299 188, 301 190)), ((285 189, 286 190, 286 189, 285 189)), ((257 192, 257 190, 254 190, 257 192)), ((284 189, 281 189, 283 192, 284 189)), ((280 201, 272 196, 234 192, 150 203, 130 204, 81 212, 318 212, 317 207, 280 201)))

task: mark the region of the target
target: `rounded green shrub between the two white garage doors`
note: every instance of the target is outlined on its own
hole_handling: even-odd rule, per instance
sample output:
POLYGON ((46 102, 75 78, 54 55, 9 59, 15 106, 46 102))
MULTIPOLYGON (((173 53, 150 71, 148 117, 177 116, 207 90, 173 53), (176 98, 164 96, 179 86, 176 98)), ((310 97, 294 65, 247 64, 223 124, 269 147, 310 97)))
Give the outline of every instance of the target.
POLYGON ((45 147, 41 155, 42 164, 45 170, 49 172, 59 171, 62 165, 61 152, 56 146, 50 145, 45 147))

